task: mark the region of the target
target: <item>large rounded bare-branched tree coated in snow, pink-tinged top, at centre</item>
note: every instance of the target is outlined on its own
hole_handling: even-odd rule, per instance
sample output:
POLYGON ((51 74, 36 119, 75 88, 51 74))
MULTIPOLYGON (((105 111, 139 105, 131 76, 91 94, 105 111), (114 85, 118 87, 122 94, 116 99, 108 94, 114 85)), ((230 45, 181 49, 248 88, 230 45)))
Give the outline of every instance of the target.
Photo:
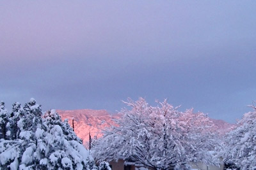
POLYGON ((106 129, 92 148, 97 160, 129 159, 154 169, 189 169, 189 162, 217 163, 210 151, 219 145, 212 122, 203 113, 184 113, 165 100, 150 106, 145 99, 126 103, 116 126, 106 129))

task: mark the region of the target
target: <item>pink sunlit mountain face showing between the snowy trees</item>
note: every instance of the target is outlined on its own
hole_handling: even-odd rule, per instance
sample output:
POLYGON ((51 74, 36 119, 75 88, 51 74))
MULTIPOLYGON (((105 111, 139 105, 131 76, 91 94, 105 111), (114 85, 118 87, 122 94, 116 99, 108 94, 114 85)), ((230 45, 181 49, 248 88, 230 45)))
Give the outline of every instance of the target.
MULTIPOLYGON (((119 118, 118 115, 110 115, 106 110, 57 110, 61 115, 61 119, 68 119, 68 123, 72 127, 72 118, 74 118, 74 131, 79 138, 83 139, 84 145, 88 146, 89 132, 92 138, 100 138, 102 129, 113 125, 112 118, 119 118)), ((223 120, 211 119, 216 125, 217 132, 225 134, 230 131, 233 124, 228 124, 223 120)))

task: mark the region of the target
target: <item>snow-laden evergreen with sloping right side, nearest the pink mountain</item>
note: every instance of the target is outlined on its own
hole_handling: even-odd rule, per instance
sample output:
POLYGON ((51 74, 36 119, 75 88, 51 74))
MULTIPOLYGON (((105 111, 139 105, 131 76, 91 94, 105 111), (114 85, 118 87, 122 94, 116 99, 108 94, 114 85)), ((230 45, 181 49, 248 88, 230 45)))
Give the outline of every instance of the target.
POLYGON ((43 142, 37 150, 38 160, 44 160, 42 165, 49 169, 95 169, 92 157, 67 122, 62 122, 55 110, 44 117, 48 129, 45 137, 38 136, 43 142))

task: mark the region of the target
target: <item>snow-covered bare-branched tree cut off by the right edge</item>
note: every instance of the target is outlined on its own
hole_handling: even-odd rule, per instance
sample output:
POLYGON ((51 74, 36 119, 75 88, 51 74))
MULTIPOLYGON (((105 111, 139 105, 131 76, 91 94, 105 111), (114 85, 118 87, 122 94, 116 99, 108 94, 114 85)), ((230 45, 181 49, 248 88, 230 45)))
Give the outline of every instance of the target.
POLYGON ((237 127, 225 138, 223 155, 227 164, 235 164, 242 170, 256 169, 256 107, 245 113, 237 127))

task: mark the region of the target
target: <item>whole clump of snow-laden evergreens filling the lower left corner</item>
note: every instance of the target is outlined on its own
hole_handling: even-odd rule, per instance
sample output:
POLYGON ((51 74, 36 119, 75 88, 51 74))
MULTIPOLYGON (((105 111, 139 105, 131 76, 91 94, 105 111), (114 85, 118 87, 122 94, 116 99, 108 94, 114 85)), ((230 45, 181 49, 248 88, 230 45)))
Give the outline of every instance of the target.
POLYGON ((98 169, 81 139, 55 110, 42 117, 35 99, 24 107, 13 104, 10 114, 3 103, 0 109, 0 169, 98 169))

